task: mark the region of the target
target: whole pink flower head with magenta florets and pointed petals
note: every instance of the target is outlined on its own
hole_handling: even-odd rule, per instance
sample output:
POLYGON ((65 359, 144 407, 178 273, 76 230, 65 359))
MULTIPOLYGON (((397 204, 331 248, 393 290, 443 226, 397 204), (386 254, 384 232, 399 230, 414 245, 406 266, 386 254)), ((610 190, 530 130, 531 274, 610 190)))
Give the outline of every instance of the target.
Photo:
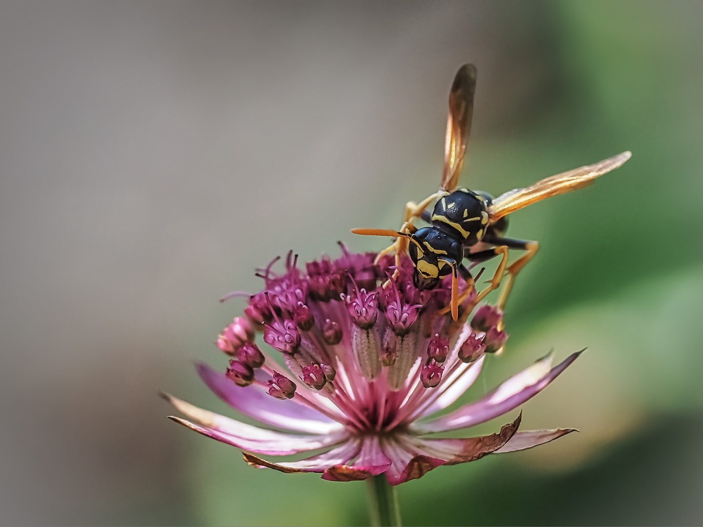
MULTIPOLYGON (((451 298, 451 279, 433 290, 413 285, 412 263, 401 259, 399 275, 385 256, 350 254, 297 268, 259 274, 264 290, 252 294, 246 318, 236 318, 217 346, 228 356, 226 372, 198 364, 198 373, 232 408, 253 417, 254 427, 166 395, 189 419, 176 422, 243 450, 254 467, 317 472, 331 481, 385 474, 397 485, 440 465, 478 460, 492 453, 523 450, 553 441, 574 429, 518 431, 521 415, 496 434, 436 438, 515 410, 560 375, 579 353, 556 367, 552 356, 538 360, 479 400, 437 416, 477 379, 486 353, 507 334, 503 312, 481 306, 472 323, 475 293, 460 306, 459 321, 439 314, 451 298), (254 344, 254 330, 280 353, 288 371, 254 344), (325 449, 311 457, 276 463, 262 456, 325 449)), ((460 287, 471 287, 460 280, 460 287)))

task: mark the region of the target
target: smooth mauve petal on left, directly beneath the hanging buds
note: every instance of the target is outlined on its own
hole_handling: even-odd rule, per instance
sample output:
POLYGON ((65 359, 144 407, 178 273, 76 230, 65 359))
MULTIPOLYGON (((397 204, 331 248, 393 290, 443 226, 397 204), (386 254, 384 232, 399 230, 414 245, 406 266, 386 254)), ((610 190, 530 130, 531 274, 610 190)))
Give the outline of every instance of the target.
POLYGON ((202 381, 215 395, 235 410, 254 417, 257 421, 271 424, 273 427, 311 434, 329 434, 343 428, 342 424, 295 399, 281 401, 273 398, 256 384, 240 388, 227 379, 224 373, 213 370, 206 364, 198 363, 196 367, 202 381))

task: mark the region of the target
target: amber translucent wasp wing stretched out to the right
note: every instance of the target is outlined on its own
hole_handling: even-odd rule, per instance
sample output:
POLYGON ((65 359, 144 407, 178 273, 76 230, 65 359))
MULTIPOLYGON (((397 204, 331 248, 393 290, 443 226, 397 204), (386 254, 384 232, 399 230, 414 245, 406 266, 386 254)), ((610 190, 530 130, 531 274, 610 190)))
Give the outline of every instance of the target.
POLYGON ((506 214, 520 210, 546 197, 556 196, 591 185, 595 178, 602 176, 630 159, 631 152, 609 157, 595 164, 562 172, 556 176, 545 178, 527 188, 516 188, 496 197, 488 207, 491 221, 501 219, 506 214))

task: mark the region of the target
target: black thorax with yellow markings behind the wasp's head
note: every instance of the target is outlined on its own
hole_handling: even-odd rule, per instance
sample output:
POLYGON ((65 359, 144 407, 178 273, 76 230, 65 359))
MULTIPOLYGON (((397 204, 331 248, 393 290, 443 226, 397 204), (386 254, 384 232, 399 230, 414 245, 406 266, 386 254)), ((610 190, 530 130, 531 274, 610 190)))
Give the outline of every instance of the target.
POLYGON ((488 226, 486 197, 462 188, 441 197, 434 205, 432 226, 463 240, 463 245, 481 241, 488 226))

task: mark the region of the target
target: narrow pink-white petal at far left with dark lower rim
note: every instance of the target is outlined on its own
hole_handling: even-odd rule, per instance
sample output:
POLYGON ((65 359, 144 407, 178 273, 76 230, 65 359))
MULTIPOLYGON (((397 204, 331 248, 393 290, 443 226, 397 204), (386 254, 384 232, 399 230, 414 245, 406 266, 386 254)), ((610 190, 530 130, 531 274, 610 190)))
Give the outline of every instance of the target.
MULTIPOLYGON (((290 434, 271 432, 272 434, 278 434, 278 437, 267 440, 248 439, 241 436, 233 436, 214 428, 201 427, 198 424, 188 421, 187 419, 181 419, 180 417, 174 417, 173 415, 169 415, 169 419, 182 424, 186 428, 195 430, 198 434, 217 439, 217 441, 221 441, 222 443, 227 443, 228 445, 236 446, 237 448, 243 448, 244 450, 251 450, 252 452, 267 455, 299 454, 301 452, 307 452, 308 450, 316 450, 318 448, 336 445, 347 438, 347 436, 343 433, 328 434, 325 436, 293 436, 290 434)), ((249 425, 245 424, 244 426, 248 427, 249 425)), ((262 429, 259 430, 266 431, 262 429)))

